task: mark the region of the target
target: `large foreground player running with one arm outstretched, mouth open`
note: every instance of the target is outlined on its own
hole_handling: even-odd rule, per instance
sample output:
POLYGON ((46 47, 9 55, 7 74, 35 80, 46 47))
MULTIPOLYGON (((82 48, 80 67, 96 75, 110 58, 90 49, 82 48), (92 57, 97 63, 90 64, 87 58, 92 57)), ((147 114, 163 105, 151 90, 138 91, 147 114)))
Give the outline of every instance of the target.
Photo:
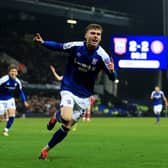
POLYGON ((44 41, 40 34, 34 37, 35 42, 47 48, 66 50, 70 54, 61 83, 61 109, 56 115, 56 120, 61 122, 62 126, 41 150, 40 159, 46 159, 48 151, 60 143, 82 117, 89 106, 99 71, 103 69, 111 80, 115 80, 114 64, 99 45, 102 31, 100 25, 89 24, 85 31, 85 41, 68 43, 44 41))

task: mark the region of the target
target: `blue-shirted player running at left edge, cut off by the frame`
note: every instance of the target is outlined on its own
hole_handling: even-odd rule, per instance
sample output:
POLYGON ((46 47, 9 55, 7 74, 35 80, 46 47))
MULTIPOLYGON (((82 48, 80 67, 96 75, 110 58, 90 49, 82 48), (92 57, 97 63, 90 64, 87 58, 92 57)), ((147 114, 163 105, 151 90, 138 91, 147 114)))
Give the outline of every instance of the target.
POLYGON ((22 84, 17 78, 18 70, 17 66, 11 64, 8 68, 8 75, 0 78, 0 121, 4 118, 4 113, 8 115, 8 120, 3 135, 8 136, 8 131, 11 128, 16 115, 16 105, 14 99, 14 91, 17 90, 20 94, 20 98, 23 101, 25 107, 29 104, 26 101, 25 94, 22 90, 22 84))

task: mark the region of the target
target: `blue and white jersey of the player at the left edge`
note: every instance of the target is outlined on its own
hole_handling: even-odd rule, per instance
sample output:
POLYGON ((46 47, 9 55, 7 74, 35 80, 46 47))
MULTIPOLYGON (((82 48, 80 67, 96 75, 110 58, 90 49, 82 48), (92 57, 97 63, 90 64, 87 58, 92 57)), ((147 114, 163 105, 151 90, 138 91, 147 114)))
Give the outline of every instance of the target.
POLYGON ((22 90, 22 84, 18 78, 11 79, 9 75, 0 78, 0 100, 9 100, 14 97, 14 92, 18 91, 23 102, 26 101, 22 90))

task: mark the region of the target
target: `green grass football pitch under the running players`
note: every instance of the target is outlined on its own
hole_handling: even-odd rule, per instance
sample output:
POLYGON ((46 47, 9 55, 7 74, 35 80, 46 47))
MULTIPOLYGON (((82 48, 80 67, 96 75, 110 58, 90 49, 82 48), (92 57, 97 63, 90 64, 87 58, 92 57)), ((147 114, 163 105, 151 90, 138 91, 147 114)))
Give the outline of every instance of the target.
MULTIPOLYGON (((93 118, 38 160, 54 131, 47 118, 16 119, 8 137, 0 135, 1 168, 167 168, 168 118, 93 118)), ((5 122, 0 123, 2 130, 5 122)))

